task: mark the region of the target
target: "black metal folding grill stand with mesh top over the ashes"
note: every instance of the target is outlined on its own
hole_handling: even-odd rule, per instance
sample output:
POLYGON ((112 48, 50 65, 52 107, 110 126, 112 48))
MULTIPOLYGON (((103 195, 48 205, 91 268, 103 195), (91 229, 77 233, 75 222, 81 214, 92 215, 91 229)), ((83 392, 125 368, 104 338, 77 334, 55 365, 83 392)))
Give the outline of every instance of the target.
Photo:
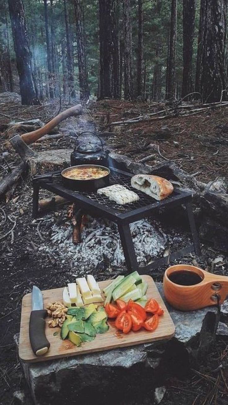
MULTIPOLYGON (((84 214, 88 213, 89 215, 92 215, 94 213, 99 217, 108 218, 109 220, 115 222, 118 226, 124 257, 126 260, 126 267, 129 272, 138 270, 140 274, 147 274, 151 269, 162 266, 163 264, 167 264, 171 260, 177 259, 192 251, 195 251, 196 255, 200 254, 200 244, 192 211, 192 194, 190 192, 175 189, 173 194, 171 194, 171 196, 165 200, 154 202, 152 198, 147 197, 144 193, 137 191, 140 197, 139 202, 128 204, 128 207, 126 205, 126 211, 124 212, 121 211, 121 208, 125 206, 121 206, 120 208, 119 206, 114 205, 113 208, 114 203, 111 202, 107 197, 101 196, 94 192, 82 193, 65 188, 61 183, 61 178, 59 178, 58 182, 56 182, 56 180, 53 181, 54 177, 52 176, 54 174, 55 173, 50 173, 43 176, 35 176, 33 178, 33 218, 38 216, 38 195, 40 188, 49 190, 66 198, 70 202, 76 203, 77 208, 81 208, 84 214), (178 250, 177 252, 171 253, 168 256, 159 258, 147 266, 139 267, 129 224, 151 216, 155 210, 158 210, 161 207, 174 207, 181 204, 186 207, 193 243, 181 250, 178 250)), ((130 173, 112 168, 110 183, 123 184, 128 188, 131 188, 131 177, 132 175, 130 173)), ((125 208, 122 209, 124 210, 125 208)))

